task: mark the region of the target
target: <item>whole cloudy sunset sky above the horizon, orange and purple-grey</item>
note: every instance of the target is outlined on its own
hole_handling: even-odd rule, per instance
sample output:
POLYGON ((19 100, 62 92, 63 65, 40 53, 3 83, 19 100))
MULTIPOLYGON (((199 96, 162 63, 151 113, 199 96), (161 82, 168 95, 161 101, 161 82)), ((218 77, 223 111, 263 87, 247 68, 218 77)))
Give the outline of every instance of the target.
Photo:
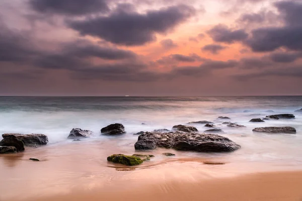
POLYGON ((1 0, 0 95, 302 95, 302 1, 1 0))

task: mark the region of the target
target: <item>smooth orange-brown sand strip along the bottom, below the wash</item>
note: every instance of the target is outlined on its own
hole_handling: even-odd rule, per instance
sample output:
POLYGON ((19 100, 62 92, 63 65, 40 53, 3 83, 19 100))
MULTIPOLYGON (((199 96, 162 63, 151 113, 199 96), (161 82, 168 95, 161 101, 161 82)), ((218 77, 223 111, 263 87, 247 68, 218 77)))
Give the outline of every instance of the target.
MULTIPOLYGON (((252 173, 195 182, 169 180, 135 183, 123 180, 103 188, 74 188, 68 193, 35 196, 18 201, 60 200, 301 200, 302 171, 252 173)), ((8 199, 9 200, 9 199, 8 199)), ((6 201, 4 199, 3 201, 6 201)))

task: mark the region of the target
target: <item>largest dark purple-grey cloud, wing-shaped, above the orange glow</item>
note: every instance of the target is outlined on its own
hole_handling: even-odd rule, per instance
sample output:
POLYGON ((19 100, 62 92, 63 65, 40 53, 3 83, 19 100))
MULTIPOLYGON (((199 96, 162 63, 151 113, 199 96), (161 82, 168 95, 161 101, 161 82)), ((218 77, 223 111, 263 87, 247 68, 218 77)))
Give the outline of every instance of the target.
POLYGON ((115 11, 83 21, 68 21, 70 28, 82 35, 103 38, 120 45, 143 45, 156 40, 156 33, 165 34, 195 13, 192 7, 179 5, 145 14, 115 11))

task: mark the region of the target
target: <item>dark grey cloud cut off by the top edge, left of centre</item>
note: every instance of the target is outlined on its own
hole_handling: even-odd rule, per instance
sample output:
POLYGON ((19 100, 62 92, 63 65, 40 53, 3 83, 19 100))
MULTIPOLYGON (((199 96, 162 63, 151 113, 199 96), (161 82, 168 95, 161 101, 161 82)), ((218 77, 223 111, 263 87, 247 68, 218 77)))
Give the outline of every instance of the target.
POLYGON ((30 0, 29 4, 43 14, 85 15, 109 11, 105 0, 30 0))

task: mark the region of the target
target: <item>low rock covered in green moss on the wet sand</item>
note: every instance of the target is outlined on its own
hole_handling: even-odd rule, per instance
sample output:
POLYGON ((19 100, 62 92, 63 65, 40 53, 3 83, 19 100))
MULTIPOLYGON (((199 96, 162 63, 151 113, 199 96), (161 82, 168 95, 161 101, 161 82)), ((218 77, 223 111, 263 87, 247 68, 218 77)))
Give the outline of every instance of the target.
POLYGON ((114 163, 120 163, 123 165, 129 165, 129 166, 139 165, 144 160, 149 160, 149 159, 150 159, 150 155, 141 155, 141 154, 134 154, 132 156, 127 156, 124 154, 113 154, 107 157, 108 161, 114 163))

